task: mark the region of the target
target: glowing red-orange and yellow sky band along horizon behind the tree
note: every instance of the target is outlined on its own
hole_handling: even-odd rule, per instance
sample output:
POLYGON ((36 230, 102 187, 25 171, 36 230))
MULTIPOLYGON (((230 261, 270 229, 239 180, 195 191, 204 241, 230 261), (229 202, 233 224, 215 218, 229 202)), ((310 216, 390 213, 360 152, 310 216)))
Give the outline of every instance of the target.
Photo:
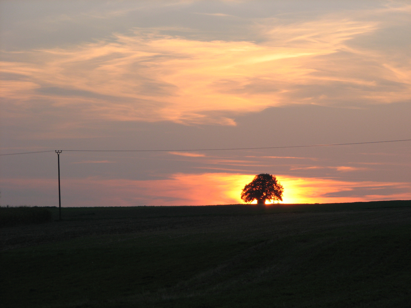
MULTIPOLYGON (((65 195, 68 196, 65 198, 65 206, 242 204, 244 203, 240 198, 242 188, 251 182, 254 176, 230 173, 178 173, 169 179, 147 181, 100 177, 65 179, 65 195)), ((284 186, 283 201, 280 202, 282 204, 411 199, 410 183, 343 182, 321 178, 291 178, 282 175, 276 177, 284 186), (404 192, 379 193, 387 188, 404 192), (366 189, 369 193, 358 195, 355 193, 356 189, 366 189)), ((27 187, 30 192, 53 196, 49 204, 55 202, 55 179, 3 179, 0 180, 0 184, 4 189, 14 186, 27 187)), ((20 204, 35 204, 35 198, 31 193, 28 195, 30 198, 25 200, 22 197, 20 204)), ((255 203, 256 201, 252 202, 255 203)))

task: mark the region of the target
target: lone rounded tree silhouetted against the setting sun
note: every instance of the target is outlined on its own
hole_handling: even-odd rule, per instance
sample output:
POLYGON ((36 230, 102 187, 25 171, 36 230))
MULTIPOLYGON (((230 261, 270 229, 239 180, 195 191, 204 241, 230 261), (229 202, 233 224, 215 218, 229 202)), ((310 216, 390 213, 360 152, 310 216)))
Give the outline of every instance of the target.
POLYGON ((265 204, 266 200, 282 201, 283 186, 275 175, 261 173, 256 175, 252 182, 244 186, 241 199, 249 203, 257 200, 257 204, 265 204))

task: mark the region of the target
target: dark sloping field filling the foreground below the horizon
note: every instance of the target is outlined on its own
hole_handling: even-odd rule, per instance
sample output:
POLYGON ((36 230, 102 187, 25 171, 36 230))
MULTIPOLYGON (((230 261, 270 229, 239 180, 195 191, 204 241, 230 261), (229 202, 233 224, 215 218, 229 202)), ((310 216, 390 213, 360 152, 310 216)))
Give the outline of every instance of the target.
POLYGON ((0 307, 411 303, 411 201, 63 208, 62 218, 0 229, 0 307))

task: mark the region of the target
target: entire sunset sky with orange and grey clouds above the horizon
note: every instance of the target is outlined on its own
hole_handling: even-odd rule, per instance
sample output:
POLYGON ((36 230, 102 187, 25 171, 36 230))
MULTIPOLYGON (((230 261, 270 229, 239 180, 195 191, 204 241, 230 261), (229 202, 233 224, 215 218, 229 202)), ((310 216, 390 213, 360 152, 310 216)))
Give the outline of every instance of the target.
POLYGON ((1 0, 0 205, 411 199, 410 1, 1 0), (211 150, 288 147, 275 149, 211 150), (71 152, 67 150, 163 150, 71 152), (189 150, 189 151, 178 151, 189 150))

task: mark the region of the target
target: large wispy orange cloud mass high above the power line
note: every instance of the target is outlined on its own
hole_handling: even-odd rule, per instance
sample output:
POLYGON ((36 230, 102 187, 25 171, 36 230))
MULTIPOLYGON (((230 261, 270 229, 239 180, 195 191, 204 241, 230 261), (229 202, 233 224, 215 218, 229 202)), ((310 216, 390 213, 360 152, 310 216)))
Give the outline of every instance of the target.
POLYGON ((267 19, 254 29, 262 43, 136 30, 68 48, 8 52, 14 61, 2 62, 2 71, 21 78, 4 81, 2 95, 16 102, 16 113, 46 100, 88 119, 223 125, 235 125, 227 110, 409 99, 405 62, 346 44, 377 23, 334 17, 287 25, 267 19), (402 86, 379 87, 378 78, 402 86))

